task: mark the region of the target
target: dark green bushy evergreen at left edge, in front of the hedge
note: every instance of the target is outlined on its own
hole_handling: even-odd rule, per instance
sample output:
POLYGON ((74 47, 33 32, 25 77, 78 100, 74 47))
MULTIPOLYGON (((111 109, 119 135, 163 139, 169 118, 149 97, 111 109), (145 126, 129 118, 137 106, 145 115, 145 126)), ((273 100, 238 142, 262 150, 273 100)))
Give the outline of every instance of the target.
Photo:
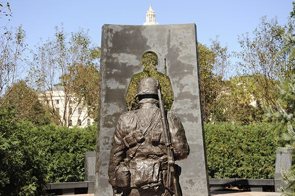
POLYGON ((12 107, 0 107, 0 195, 36 196, 44 194, 46 167, 44 153, 34 145, 31 124, 16 121, 12 107))

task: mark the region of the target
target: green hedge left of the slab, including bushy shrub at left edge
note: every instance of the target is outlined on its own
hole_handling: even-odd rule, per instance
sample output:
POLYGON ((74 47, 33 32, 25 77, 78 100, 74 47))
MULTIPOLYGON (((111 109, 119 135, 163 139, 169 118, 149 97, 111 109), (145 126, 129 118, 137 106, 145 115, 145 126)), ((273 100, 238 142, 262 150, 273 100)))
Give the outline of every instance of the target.
POLYGON ((0 195, 46 195, 51 182, 84 181, 84 156, 96 149, 97 126, 35 127, 0 107, 0 195))

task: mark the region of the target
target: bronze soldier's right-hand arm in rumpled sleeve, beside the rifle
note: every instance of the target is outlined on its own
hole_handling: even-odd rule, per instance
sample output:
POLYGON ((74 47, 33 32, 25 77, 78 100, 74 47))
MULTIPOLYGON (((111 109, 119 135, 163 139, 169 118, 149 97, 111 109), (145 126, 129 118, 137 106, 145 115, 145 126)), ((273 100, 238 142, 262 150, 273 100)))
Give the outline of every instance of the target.
POLYGON ((185 131, 180 118, 173 112, 168 112, 168 125, 175 160, 186 159, 190 149, 186 140, 185 131))

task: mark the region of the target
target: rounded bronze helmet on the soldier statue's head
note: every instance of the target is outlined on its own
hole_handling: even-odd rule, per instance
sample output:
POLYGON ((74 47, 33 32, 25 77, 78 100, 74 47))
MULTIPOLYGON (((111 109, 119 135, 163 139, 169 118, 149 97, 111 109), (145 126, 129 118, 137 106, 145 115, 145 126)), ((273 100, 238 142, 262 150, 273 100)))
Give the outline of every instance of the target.
POLYGON ((158 95, 158 81, 153 78, 145 78, 137 86, 137 94, 141 95, 158 95))

